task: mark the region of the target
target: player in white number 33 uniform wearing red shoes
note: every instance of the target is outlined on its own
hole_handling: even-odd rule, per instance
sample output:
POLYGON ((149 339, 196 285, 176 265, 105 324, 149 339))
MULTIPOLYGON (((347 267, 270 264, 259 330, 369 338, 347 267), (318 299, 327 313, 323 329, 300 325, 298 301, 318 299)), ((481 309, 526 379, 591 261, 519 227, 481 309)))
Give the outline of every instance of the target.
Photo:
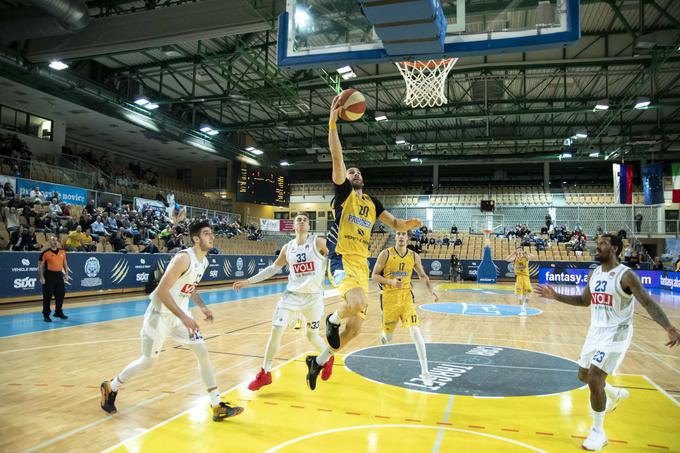
MULTIPOLYGON (((326 343, 319 335, 319 326, 324 314, 323 281, 326 275, 326 240, 309 234, 309 217, 304 212, 295 216, 295 239, 284 245, 274 263, 247 280, 234 282, 234 290, 259 283, 279 273, 288 264, 288 286, 281 296, 272 319, 272 333, 264 352, 262 368, 248 385, 250 390, 259 390, 272 383, 272 361, 281 346, 283 331, 290 320, 304 317, 307 323, 307 339, 317 349, 324 351, 326 343)), ((333 356, 323 359, 321 379, 330 378, 333 370, 333 356)))

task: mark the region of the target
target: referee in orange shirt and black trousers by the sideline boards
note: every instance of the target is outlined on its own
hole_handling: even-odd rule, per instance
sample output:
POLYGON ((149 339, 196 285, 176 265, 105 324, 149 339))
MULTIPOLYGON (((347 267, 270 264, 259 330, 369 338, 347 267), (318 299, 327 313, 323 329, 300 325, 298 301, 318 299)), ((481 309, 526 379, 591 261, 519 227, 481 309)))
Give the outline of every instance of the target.
POLYGON ((40 254, 38 261, 38 276, 43 285, 43 320, 52 322, 50 318, 50 301, 54 294, 56 304, 54 316, 68 319, 62 311, 66 290, 64 282, 68 279, 68 264, 66 263, 66 250, 59 248, 59 242, 55 236, 50 236, 50 248, 40 254), (44 269, 46 267, 46 269, 44 269))

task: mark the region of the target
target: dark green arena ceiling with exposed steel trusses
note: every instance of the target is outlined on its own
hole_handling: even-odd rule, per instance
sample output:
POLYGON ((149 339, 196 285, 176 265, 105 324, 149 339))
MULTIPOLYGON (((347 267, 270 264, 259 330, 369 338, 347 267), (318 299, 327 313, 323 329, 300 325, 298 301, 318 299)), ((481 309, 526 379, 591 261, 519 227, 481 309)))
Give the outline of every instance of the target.
MULTIPOLYGON (((344 1, 324 4, 332 11, 344 1)), ((17 15, 30 3, 0 0, 0 8, 17 15)), ((507 3, 467 2, 480 11, 507 3)), ((537 0, 513 4, 528 11, 537 0)), ((0 22, 0 76, 111 116, 134 111, 166 139, 198 141, 226 158, 328 165, 325 126, 336 68, 277 67, 283 0, 98 0, 87 7, 91 20, 75 34, 30 36, 26 27, 8 31, 0 22), (53 59, 69 69, 50 70, 53 59), (159 108, 135 106, 138 95, 159 108), (197 132, 203 124, 220 134, 208 139, 197 132)), ((567 152, 585 160, 677 158, 680 2, 584 0, 581 31, 577 44, 562 49, 461 59, 441 108, 405 107, 393 64, 354 65, 357 77, 341 86, 362 91, 369 111, 341 128, 348 156, 375 166, 412 165, 411 158, 549 161, 567 152), (633 108, 640 97, 651 99, 649 108, 633 108), (603 100, 609 110, 594 111, 603 100), (388 121, 376 122, 375 112, 388 121), (578 131, 588 137, 565 148, 578 131), (397 136, 407 143, 397 145, 397 136)))

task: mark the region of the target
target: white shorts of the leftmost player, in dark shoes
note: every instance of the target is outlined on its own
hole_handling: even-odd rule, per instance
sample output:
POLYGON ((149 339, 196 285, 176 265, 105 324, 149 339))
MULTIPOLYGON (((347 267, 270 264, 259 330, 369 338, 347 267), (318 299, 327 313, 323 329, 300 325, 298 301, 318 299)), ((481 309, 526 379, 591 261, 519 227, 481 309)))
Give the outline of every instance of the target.
MULTIPOLYGON (((191 311, 185 311, 189 317, 191 311)), ((151 357, 156 357, 160 354, 163 348, 165 339, 170 335, 177 343, 184 345, 191 345, 203 342, 201 333, 198 332, 195 336, 189 336, 189 330, 182 324, 182 321, 172 313, 160 312, 149 304, 146 313, 144 313, 144 323, 142 323, 142 330, 139 332, 142 338, 151 339, 153 345, 151 347, 151 357)), ((144 352, 144 351, 142 351, 144 352)))

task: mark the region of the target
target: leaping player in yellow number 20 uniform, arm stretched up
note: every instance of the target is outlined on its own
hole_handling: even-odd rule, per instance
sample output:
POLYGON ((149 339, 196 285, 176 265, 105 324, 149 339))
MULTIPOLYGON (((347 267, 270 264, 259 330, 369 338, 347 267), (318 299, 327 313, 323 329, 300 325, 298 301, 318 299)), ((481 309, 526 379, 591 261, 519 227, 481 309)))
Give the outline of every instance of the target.
MULTIPOLYGON (((333 160, 335 222, 328 233, 328 277, 344 299, 326 318, 326 339, 333 349, 344 347, 359 334, 368 307, 368 244, 377 219, 396 231, 418 228, 420 220, 401 220, 387 212, 376 198, 363 192, 364 180, 358 168, 346 168, 336 121, 342 109, 339 96, 333 99, 328 120, 328 146, 333 160), (340 331, 341 321, 345 320, 340 331)), ((330 358, 330 349, 318 357, 307 356, 307 385, 316 388, 316 378, 330 358)))

